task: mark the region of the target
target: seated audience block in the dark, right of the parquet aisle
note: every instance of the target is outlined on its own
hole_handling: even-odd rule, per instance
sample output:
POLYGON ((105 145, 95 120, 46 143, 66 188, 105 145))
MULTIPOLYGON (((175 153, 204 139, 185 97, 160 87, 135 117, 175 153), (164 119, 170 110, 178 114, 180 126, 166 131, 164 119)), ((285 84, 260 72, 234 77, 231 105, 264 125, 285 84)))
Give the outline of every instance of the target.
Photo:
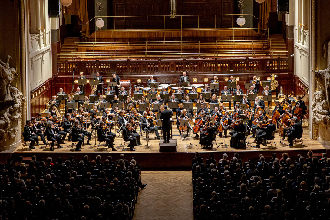
POLYGON ((317 158, 309 151, 306 160, 285 152, 282 158, 260 154, 246 163, 238 153, 223 154, 218 164, 214 156, 205 165, 199 155, 194 158, 194 219, 329 219, 330 158, 325 153, 317 158))

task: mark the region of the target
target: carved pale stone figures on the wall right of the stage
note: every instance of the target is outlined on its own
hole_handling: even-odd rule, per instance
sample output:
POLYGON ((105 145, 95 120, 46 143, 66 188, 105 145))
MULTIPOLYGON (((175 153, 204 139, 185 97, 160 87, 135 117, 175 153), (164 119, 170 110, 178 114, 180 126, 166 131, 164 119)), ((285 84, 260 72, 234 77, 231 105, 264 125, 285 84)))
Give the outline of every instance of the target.
POLYGON ((321 90, 313 94, 312 113, 316 124, 330 128, 330 66, 325 70, 314 71, 315 79, 321 90))

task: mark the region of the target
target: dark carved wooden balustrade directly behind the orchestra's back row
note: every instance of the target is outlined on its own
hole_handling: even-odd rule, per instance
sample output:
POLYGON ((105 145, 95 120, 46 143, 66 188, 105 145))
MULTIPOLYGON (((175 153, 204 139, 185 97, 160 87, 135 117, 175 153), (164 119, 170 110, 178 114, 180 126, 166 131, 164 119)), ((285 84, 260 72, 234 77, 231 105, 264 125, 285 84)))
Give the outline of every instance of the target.
POLYGON ((83 72, 90 75, 99 71, 116 74, 155 73, 287 73, 288 58, 214 58, 171 60, 65 60, 58 61, 58 74, 83 72))

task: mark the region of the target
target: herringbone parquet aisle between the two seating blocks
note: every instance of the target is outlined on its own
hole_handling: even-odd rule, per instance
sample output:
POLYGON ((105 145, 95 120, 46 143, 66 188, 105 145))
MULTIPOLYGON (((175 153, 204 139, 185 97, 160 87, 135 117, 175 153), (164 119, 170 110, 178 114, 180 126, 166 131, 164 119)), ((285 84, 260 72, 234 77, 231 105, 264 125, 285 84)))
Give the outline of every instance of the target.
POLYGON ((144 171, 134 220, 193 219, 191 171, 144 171))

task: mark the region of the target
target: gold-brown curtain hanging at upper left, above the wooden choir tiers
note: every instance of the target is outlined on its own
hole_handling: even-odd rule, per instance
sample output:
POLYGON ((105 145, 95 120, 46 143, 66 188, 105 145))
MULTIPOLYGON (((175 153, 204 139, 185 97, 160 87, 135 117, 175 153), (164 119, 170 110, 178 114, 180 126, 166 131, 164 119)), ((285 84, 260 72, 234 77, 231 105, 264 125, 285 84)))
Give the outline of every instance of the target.
POLYGON ((87 12, 88 0, 72 0, 72 4, 66 8, 67 15, 76 15, 80 18, 81 31, 87 31, 86 37, 89 35, 88 12, 87 12), (86 24, 87 23, 87 24, 86 24))

